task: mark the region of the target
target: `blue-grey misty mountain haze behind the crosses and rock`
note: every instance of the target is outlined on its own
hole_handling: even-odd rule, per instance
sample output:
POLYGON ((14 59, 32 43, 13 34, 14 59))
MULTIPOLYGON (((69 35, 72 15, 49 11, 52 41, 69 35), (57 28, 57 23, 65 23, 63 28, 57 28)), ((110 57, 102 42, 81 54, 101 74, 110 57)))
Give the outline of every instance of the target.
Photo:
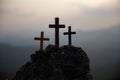
MULTIPOLYGON (((60 45, 67 45, 67 36, 60 30, 60 45)), ((73 30, 74 31, 74 30, 73 30)), ((39 41, 34 41, 31 32, 16 33, 0 40, 0 75, 15 74, 23 64, 30 60, 30 55, 39 49, 39 41), (30 33, 30 34, 28 34, 30 33)), ((94 31, 77 31, 72 36, 74 46, 81 47, 90 58, 91 73, 94 80, 113 80, 119 78, 120 67, 120 25, 94 31)), ((46 32, 49 42, 54 44, 54 31, 46 32)))

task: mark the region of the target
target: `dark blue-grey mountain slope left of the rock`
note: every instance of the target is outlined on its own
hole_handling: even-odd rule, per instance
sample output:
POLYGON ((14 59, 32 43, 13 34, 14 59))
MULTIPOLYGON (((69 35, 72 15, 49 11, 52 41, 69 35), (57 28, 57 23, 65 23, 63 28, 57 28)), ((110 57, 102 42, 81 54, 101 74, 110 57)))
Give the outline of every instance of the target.
POLYGON ((30 58, 35 47, 16 47, 0 44, 0 73, 13 73, 30 58))

